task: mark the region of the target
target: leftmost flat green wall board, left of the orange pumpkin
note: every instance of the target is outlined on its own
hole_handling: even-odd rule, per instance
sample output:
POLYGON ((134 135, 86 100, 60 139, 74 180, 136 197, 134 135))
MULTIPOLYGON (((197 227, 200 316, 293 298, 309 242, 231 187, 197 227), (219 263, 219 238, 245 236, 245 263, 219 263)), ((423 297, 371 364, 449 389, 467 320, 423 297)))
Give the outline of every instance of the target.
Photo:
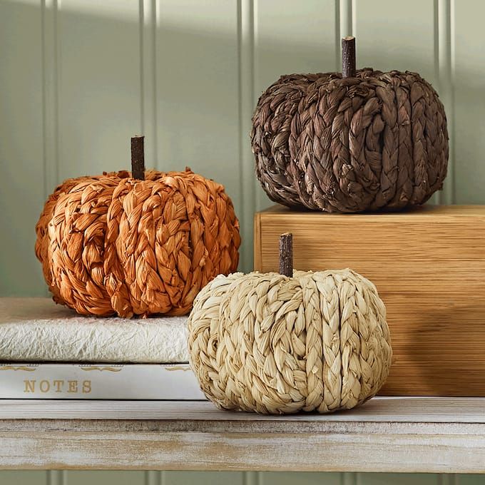
POLYGON ((41 2, 0 1, 0 295, 42 295, 34 255, 44 203, 41 2))

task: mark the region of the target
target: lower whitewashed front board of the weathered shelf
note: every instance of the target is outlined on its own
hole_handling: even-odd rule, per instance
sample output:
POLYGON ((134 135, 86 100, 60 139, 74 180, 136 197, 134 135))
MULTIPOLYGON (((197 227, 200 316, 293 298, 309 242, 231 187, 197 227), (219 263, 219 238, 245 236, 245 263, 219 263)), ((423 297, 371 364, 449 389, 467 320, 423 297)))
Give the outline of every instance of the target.
POLYGON ((0 432, 1 468, 485 472, 485 434, 0 432))

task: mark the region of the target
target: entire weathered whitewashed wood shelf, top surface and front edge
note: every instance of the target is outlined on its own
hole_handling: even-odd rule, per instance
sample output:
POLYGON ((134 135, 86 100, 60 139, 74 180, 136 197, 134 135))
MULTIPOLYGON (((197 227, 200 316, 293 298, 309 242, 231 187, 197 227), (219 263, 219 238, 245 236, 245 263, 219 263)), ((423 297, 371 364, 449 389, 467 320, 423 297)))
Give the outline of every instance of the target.
POLYGON ((265 417, 209 402, 0 401, 0 468, 485 472, 485 398, 265 417))

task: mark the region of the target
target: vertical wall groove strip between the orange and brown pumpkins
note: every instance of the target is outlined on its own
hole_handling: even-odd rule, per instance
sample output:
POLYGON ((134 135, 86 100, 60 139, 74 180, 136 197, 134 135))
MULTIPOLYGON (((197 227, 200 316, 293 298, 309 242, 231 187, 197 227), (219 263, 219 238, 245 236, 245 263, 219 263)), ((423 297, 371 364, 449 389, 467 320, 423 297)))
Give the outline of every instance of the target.
POLYGON ((254 159, 250 147, 252 104, 254 101, 254 10, 252 0, 238 0, 238 111, 240 225, 245 239, 241 252, 242 270, 252 269, 252 215, 255 212, 254 159))

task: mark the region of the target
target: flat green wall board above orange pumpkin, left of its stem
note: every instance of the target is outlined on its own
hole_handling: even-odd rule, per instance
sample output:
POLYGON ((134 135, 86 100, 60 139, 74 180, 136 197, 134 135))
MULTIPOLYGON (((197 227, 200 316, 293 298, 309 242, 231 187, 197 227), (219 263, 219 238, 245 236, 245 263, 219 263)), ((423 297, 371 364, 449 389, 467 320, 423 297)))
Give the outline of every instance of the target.
POLYGON ((130 137, 141 131, 138 1, 60 5, 58 177, 130 168, 130 137))

